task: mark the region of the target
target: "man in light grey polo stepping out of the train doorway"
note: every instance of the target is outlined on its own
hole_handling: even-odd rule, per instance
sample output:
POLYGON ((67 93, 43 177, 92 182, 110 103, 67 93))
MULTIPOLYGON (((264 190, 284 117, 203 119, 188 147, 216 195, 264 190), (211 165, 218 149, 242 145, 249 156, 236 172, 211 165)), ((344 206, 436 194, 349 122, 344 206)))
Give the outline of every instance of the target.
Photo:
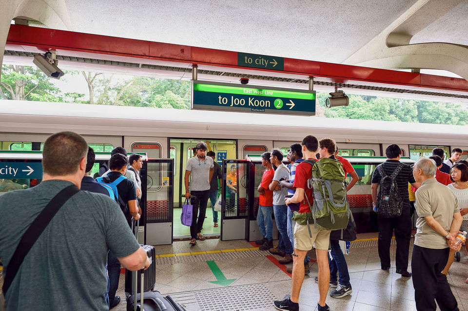
POLYGON ((190 245, 195 245, 196 240, 204 240, 201 234, 203 221, 205 221, 206 205, 208 204, 208 195, 210 192, 210 181, 213 177, 214 162, 211 157, 206 156, 208 146, 205 142, 199 142, 195 146, 195 157, 190 158, 185 166, 185 198, 194 196, 192 199, 193 214, 192 225, 190 226, 190 235, 192 240, 190 245), (192 175, 192 182, 189 189, 189 176, 192 175), (198 215, 198 207, 200 214, 198 215), (197 217, 198 215, 198 217, 197 217))

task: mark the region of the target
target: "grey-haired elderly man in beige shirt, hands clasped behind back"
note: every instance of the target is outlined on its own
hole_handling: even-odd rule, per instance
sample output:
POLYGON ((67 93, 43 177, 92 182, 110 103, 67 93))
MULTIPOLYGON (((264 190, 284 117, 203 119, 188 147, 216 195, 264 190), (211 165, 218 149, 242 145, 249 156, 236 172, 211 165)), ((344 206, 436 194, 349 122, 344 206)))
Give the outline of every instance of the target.
POLYGON ((435 301, 441 311, 456 311, 457 301, 442 270, 448 247, 455 249, 462 216, 453 192, 435 180, 436 170, 431 159, 420 159, 413 166, 414 179, 421 183, 416 191, 419 218, 411 258, 414 298, 418 311, 436 310, 435 301))

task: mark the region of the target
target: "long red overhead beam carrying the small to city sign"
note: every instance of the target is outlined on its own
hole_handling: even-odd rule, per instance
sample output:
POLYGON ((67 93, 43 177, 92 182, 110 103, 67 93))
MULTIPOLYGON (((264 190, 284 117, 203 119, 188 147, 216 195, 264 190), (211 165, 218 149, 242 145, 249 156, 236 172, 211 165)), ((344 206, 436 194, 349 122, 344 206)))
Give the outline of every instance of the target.
POLYGON ((468 81, 461 78, 407 73, 294 58, 284 58, 284 71, 257 69, 238 66, 237 52, 232 51, 91 35, 23 25, 10 25, 10 32, 6 43, 20 46, 32 46, 43 51, 47 51, 48 49, 69 50, 249 70, 322 76, 329 77, 335 82, 354 80, 452 91, 468 91, 468 81))

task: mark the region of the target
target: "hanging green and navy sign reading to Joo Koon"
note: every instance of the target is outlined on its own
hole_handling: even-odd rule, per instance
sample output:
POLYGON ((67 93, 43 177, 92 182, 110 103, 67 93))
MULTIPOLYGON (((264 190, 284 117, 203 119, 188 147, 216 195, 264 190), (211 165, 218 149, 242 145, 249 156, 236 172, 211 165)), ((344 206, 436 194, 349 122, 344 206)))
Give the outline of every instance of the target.
POLYGON ((194 81, 192 109, 315 115, 315 91, 194 81))

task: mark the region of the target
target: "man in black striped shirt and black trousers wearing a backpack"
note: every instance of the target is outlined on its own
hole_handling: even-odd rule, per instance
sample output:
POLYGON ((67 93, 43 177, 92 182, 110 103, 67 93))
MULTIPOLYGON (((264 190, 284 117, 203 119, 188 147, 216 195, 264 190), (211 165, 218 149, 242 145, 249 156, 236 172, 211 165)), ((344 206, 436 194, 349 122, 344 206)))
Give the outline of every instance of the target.
MULTIPOLYGON (((398 217, 384 218, 378 215, 379 224, 379 257, 382 270, 390 268, 390 242, 395 231, 396 240, 396 273, 405 277, 410 277, 411 273, 408 272, 408 256, 409 256, 409 240, 411 238, 411 216, 408 195, 408 183, 411 183, 415 188, 419 187, 413 177, 412 169, 409 165, 400 162, 401 149, 398 145, 390 145, 385 149, 387 161, 380 164, 387 174, 390 176, 393 171, 402 165, 398 175, 396 175, 396 183, 398 185, 398 192, 403 201, 402 212, 398 217)), ((378 169, 376 168, 372 173, 371 192, 372 192, 372 205, 377 202, 377 188, 382 180, 378 169)))

